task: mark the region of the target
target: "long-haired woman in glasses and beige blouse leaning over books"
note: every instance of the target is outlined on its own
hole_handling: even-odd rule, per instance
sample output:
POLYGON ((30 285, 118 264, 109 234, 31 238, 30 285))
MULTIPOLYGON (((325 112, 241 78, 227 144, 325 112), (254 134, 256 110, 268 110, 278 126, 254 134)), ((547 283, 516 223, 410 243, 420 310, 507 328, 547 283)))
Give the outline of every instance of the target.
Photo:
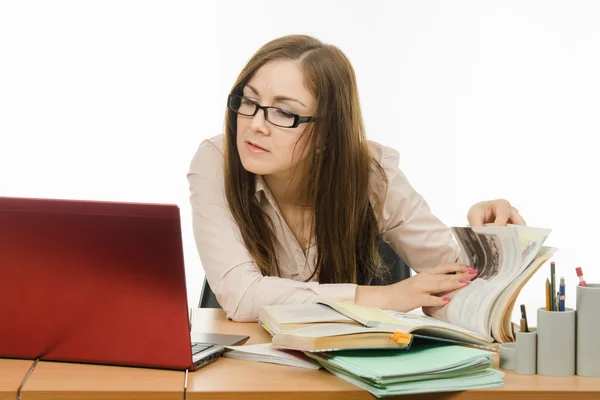
MULTIPOLYGON (((188 179, 200 259, 234 321, 317 296, 439 307, 477 275, 399 170, 398 153, 366 140, 346 56, 309 36, 254 54, 228 97, 225 134, 200 144, 188 179), (369 286, 387 272, 378 238, 418 273, 369 286)), ((468 220, 524 224, 505 200, 474 205, 468 220)))

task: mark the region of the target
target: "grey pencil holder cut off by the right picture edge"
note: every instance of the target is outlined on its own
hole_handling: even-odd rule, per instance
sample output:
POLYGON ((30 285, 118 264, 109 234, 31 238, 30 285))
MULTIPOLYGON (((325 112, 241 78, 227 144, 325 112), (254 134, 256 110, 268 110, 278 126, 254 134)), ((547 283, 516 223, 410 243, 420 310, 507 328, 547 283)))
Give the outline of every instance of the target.
POLYGON ((600 285, 577 286, 577 375, 600 377, 600 285))

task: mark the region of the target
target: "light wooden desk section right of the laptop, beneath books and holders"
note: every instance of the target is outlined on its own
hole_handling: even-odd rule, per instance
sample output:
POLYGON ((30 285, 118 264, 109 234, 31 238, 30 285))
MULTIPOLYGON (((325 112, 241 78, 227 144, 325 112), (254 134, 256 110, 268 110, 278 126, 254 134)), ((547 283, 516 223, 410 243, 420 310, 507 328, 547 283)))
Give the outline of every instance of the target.
MULTIPOLYGON (((258 324, 227 321, 221 310, 194 311, 193 330, 250 335, 248 343, 266 343, 270 337, 258 324)), ((496 360, 497 368, 497 360, 496 360)), ((401 396, 414 399, 600 399, 600 378, 519 375, 504 371, 504 387, 452 393, 401 396)), ((329 374, 282 365, 222 359, 190 373, 188 399, 369 399, 370 393, 329 374)))

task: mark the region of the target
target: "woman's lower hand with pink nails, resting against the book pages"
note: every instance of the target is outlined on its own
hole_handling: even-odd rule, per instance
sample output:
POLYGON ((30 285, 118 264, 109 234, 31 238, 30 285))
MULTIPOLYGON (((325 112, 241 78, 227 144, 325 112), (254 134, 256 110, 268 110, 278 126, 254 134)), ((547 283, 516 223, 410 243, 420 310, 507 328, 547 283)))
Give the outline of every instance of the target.
POLYGON ((359 286, 355 302, 400 312, 419 307, 441 307, 450 301, 444 293, 465 287, 475 277, 477 270, 468 265, 440 264, 391 285, 359 286))

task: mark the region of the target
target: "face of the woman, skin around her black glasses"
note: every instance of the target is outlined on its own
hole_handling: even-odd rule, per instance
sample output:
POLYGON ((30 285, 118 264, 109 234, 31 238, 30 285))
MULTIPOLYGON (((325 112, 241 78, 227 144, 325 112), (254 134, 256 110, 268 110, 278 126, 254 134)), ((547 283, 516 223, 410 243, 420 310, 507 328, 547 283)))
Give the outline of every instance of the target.
MULTIPOLYGON (((258 69, 243 88, 243 96, 261 106, 279 107, 300 116, 313 116, 316 99, 304 87, 304 75, 295 61, 271 61, 258 69)), ((275 120, 276 110, 269 109, 275 120)), ((309 123, 310 124, 310 123, 309 123)), ((309 124, 282 128, 265 120, 263 110, 254 117, 237 116, 237 148, 244 168, 257 175, 289 176, 308 151, 309 124)))

